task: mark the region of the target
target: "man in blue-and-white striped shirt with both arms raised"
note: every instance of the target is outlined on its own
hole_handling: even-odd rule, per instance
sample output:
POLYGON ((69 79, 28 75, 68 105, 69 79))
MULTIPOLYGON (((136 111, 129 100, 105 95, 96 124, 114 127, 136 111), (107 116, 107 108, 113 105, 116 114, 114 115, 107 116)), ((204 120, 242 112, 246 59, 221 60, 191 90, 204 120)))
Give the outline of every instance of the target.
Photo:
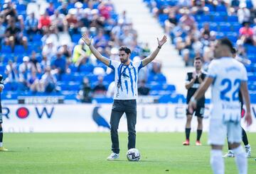
POLYGON ((111 141, 112 141, 112 153, 107 157, 107 160, 115 160, 119 158, 119 139, 118 139, 118 126, 119 120, 122 115, 126 114, 127 127, 128 127, 128 149, 135 148, 136 131, 135 125, 137 120, 137 96, 138 96, 138 73, 139 69, 152 62, 156 55, 159 53, 161 47, 167 40, 166 35, 159 40, 157 38, 158 46, 152 52, 149 57, 146 57, 142 61, 132 62, 130 59, 131 50, 128 47, 119 47, 119 59, 120 62, 112 61, 103 57, 92 45, 92 39, 86 34, 82 35, 82 40, 85 42, 92 54, 95 55, 102 63, 109 66, 114 70, 114 103, 112 106, 112 112, 110 117, 111 125, 111 141))

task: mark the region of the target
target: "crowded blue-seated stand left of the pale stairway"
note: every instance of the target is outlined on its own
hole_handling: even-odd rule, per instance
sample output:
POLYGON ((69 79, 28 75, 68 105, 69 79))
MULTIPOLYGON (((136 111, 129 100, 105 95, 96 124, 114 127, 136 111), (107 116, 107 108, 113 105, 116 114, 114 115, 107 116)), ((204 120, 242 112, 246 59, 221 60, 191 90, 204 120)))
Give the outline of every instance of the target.
MULTIPOLYGON (((143 59, 150 52, 147 45, 137 43, 137 31, 125 11, 117 14, 111 1, 2 0, 0 3, 0 74, 4 74, 6 83, 4 99, 64 95, 65 100, 83 103, 112 102, 106 92, 114 74, 92 56, 80 40, 81 33, 91 35, 97 50, 110 59, 119 59, 120 45, 132 49, 134 60, 143 59), (102 77, 100 87, 99 77, 102 77)), ((166 84, 160 62, 151 63, 139 76, 151 88, 150 95, 176 95, 175 86, 166 84)))

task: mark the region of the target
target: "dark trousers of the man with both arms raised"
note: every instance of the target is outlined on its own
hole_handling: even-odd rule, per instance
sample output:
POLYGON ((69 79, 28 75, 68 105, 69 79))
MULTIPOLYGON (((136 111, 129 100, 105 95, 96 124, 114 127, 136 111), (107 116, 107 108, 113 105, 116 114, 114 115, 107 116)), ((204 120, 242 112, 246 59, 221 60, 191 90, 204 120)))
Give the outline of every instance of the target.
POLYGON ((111 117, 110 117, 112 151, 114 153, 119 153, 119 139, 118 139, 117 129, 118 129, 120 118, 122 117, 124 112, 127 116, 128 149, 135 148, 135 143, 136 143, 135 125, 137 120, 136 100, 114 100, 111 117))

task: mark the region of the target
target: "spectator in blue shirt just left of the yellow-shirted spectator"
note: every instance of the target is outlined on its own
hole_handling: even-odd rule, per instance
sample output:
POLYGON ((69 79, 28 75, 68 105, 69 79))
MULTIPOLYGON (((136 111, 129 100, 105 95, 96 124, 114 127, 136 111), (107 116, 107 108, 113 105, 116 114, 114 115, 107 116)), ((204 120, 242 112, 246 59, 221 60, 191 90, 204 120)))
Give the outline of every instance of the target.
POLYGON ((65 74, 68 68, 65 57, 63 57, 60 52, 57 52, 56 56, 53 57, 51 68, 55 71, 55 74, 57 74, 58 81, 60 81, 61 75, 65 74))

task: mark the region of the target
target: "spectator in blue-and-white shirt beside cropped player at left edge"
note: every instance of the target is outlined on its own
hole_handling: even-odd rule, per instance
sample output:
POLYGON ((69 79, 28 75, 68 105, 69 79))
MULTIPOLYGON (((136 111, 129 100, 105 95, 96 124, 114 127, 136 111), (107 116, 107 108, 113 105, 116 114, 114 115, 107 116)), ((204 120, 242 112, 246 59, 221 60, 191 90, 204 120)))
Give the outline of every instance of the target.
POLYGON ((6 83, 18 81, 18 69, 16 63, 12 62, 11 59, 8 61, 4 73, 6 74, 6 83))

